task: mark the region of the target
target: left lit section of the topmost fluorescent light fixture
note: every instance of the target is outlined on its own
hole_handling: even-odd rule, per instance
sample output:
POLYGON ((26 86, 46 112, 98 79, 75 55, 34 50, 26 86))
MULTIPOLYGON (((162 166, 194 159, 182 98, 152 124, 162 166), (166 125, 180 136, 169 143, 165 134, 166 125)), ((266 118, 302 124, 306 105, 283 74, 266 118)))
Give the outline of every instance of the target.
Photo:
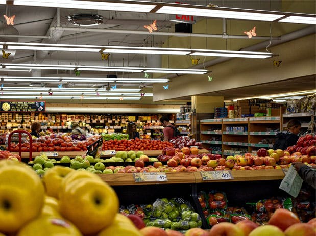
POLYGON ((98 2, 77 0, 14 0, 14 5, 129 12, 150 12, 156 6, 156 4, 129 3, 129 1, 98 2))

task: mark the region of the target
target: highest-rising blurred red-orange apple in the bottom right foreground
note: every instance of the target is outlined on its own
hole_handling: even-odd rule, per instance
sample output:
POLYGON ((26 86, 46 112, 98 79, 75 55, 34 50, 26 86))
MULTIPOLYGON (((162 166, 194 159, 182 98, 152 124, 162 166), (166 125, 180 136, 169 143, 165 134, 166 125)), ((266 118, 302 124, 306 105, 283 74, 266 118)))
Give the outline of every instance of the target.
POLYGON ((282 231, 285 231, 285 229, 289 226, 300 222, 300 219, 293 212, 288 211, 287 209, 279 208, 276 209, 268 223, 279 227, 282 231))

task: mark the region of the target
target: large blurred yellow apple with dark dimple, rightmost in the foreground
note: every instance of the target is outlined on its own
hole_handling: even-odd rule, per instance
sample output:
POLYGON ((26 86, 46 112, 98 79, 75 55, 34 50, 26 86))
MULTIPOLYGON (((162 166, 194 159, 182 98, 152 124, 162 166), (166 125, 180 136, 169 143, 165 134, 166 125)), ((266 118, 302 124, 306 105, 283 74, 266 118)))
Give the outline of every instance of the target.
POLYGON ((112 224, 119 202, 107 183, 97 175, 83 177, 84 172, 87 171, 79 171, 64 179, 66 185, 59 193, 60 213, 83 234, 94 235, 112 224))

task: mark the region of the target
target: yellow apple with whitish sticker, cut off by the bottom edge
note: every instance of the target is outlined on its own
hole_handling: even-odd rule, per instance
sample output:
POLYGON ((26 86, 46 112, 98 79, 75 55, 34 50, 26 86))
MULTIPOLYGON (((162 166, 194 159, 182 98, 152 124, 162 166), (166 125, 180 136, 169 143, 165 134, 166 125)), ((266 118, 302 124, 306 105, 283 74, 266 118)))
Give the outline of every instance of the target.
POLYGON ((82 236, 75 225, 57 216, 43 216, 33 220, 22 227, 17 236, 35 235, 71 235, 82 236))

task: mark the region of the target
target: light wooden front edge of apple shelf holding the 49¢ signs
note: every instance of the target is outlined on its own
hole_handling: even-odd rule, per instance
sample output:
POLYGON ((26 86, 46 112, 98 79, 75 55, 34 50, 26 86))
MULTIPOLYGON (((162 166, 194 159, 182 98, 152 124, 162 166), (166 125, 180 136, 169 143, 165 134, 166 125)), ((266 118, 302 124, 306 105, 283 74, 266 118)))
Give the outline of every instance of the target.
POLYGON ((284 178, 282 170, 238 170, 231 171, 233 179, 203 181, 201 173, 197 172, 166 172, 168 181, 165 182, 135 182, 133 174, 99 174, 101 179, 112 186, 123 185, 157 185, 177 183, 202 183, 202 182, 237 182, 237 181, 261 181, 280 180, 284 178))

